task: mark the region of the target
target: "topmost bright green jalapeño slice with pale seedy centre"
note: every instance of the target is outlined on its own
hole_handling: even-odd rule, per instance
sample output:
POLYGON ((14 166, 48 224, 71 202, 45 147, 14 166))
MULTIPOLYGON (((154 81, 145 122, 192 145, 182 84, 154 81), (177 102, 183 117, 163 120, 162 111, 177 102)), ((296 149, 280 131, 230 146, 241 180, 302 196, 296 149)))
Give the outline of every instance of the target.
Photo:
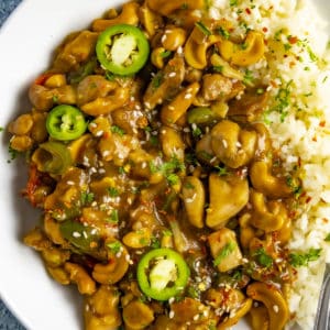
POLYGON ((120 76, 138 73, 146 63, 150 45, 136 26, 117 24, 105 30, 96 45, 101 66, 120 76))

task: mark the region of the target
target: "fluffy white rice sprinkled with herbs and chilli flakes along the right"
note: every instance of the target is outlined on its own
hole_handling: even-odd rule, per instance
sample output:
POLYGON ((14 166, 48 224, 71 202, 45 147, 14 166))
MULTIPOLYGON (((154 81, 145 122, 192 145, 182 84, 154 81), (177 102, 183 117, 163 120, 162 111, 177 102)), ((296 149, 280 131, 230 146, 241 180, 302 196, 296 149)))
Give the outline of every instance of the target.
POLYGON ((286 116, 271 112, 266 122, 287 169, 300 160, 298 176, 309 200, 300 207, 302 212, 294 223, 289 248, 299 252, 322 249, 318 261, 298 268, 298 279, 288 297, 293 322, 308 330, 314 327, 324 263, 330 262, 330 243, 324 241, 330 233, 330 55, 326 23, 311 0, 231 2, 232 6, 229 0, 213 0, 211 16, 231 21, 238 34, 244 35, 249 28, 263 31, 268 43, 276 37, 290 46, 287 57, 284 53, 271 56, 268 50, 265 58, 249 69, 263 84, 278 85, 270 87, 270 109, 276 106, 279 88, 289 85, 286 116), (284 32, 278 33, 280 30, 284 32), (301 42, 290 44, 289 35, 301 42))

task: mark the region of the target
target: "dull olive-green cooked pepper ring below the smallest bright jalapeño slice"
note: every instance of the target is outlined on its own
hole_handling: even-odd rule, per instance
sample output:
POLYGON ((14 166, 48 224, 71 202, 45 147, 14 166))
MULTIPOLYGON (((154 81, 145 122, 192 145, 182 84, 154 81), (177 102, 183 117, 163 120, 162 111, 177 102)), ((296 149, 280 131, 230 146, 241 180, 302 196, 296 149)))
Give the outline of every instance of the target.
POLYGON ((65 173, 73 163, 66 145, 55 141, 42 143, 32 155, 32 161, 40 172, 55 175, 65 173))

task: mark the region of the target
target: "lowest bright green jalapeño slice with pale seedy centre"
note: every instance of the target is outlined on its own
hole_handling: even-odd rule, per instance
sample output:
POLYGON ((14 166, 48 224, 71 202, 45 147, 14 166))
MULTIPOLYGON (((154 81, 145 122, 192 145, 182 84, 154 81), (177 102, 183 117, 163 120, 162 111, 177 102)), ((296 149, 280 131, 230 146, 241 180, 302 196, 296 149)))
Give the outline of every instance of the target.
POLYGON ((138 283, 147 297, 165 301, 180 294, 190 271, 180 254, 170 249, 155 249, 142 256, 138 264, 138 283))

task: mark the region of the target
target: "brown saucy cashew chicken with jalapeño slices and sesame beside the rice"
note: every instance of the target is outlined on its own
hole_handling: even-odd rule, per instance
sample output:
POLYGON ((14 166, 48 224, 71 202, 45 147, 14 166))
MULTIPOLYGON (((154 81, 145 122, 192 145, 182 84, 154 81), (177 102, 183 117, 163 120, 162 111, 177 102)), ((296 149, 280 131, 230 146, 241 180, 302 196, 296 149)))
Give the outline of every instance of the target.
POLYGON ((315 54, 244 21, 254 1, 207 2, 131 1, 68 34, 8 127, 42 210, 24 243, 77 286, 86 330, 280 330, 320 257, 289 246, 308 196, 270 129, 297 86, 272 65, 315 54))

